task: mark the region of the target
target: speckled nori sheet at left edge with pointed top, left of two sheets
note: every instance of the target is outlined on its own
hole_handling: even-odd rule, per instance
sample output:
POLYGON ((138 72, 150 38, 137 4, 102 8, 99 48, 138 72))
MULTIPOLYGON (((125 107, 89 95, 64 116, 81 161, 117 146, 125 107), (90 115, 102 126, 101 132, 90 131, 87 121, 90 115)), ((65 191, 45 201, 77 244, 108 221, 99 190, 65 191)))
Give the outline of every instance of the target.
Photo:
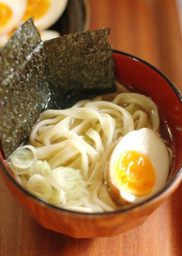
POLYGON ((0 139, 5 158, 22 144, 49 98, 42 45, 31 18, 0 49, 0 139))

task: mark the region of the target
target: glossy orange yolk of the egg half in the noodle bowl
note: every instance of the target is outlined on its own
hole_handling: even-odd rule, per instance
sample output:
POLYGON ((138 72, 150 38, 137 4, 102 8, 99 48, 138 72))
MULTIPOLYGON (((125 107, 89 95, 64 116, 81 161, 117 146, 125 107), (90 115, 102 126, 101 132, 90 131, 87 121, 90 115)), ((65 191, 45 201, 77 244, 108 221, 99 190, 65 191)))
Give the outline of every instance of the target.
POLYGON ((148 195, 156 179, 147 156, 137 151, 124 152, 116 159, 113 177, 117 185, 135 196, 148 195))

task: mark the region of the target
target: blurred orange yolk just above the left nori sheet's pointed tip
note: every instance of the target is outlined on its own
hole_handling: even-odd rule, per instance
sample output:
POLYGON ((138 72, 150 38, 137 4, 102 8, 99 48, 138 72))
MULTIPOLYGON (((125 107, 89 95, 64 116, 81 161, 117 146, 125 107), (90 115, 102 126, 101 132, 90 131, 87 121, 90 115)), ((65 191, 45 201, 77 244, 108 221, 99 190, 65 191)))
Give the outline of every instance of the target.
POLYGON ((49 10, 50 5, 50 0, 28 0, 27 10, 23 20, 26 21, 32 16, 34 16, 35 19, 41 18, 49 10))

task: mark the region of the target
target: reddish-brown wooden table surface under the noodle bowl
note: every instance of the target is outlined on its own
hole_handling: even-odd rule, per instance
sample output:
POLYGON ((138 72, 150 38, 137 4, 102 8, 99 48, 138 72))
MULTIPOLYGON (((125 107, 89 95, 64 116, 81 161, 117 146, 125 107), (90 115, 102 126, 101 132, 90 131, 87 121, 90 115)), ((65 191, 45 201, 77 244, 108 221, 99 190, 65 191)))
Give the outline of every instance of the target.
MULTIPOLYGON (((182 92, 175 0, 90 0, 90 8, 90 29, 110 27, 114 49, 158 67, 182 92)), ((182 255, 182 184, 142 226, 111 238, 75 239, 39 226, 16 204, 0 177, 0 255, 182 255)))

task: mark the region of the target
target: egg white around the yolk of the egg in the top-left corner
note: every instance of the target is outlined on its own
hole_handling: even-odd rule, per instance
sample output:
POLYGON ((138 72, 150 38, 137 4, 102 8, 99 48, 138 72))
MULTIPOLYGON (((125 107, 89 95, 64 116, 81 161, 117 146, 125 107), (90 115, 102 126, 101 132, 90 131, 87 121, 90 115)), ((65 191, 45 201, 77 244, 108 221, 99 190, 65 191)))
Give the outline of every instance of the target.
POLYGON ((27 0, 0 0, 0 4, 7 5, 12 10, 12 17, 2 26, 0 24, 0 35, 15 29, 21 22, 27 8, 27 0))

